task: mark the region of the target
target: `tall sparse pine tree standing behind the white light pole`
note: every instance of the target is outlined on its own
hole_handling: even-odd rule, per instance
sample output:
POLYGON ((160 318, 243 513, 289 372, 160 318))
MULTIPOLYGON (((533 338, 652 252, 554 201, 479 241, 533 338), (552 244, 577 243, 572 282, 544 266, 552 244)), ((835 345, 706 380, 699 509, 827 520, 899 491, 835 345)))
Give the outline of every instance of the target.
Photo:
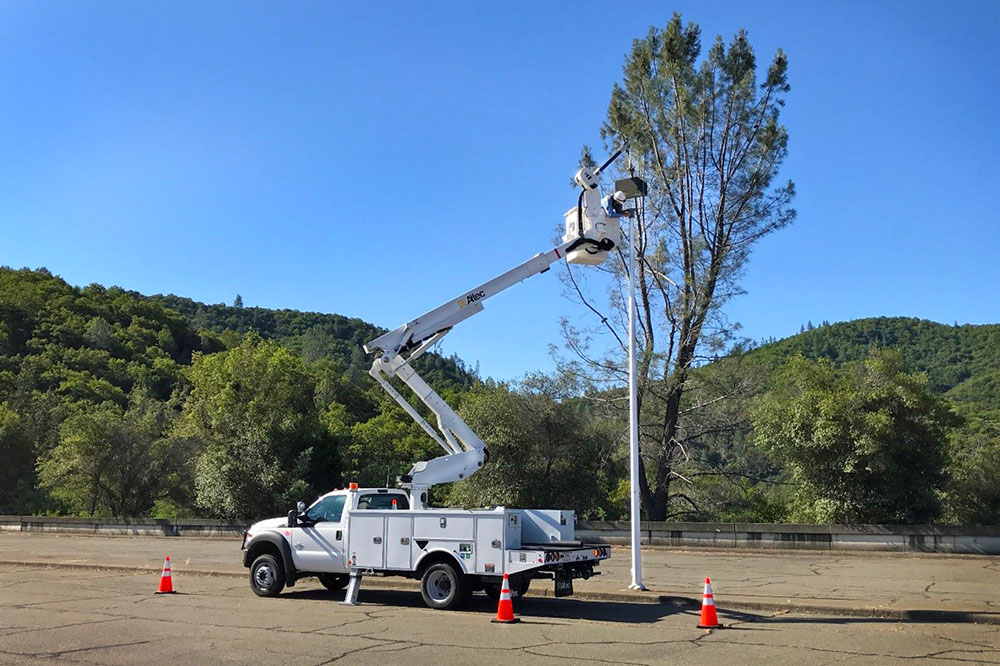
MULTIPOLYGON (((785 55, 777 52, 758 85, 744 31, 728 46, 717 38, 698 64, 700 54, 698 26, 683 26, 676 14, 664 30, 636 39, 601 128, 609 145, 628 144, 623 170, 649 183, 635 249, 639 482, 652 520, 670 515, 671 502, 690 502, 671 492, 699 441, 688 417, 706 400, 725 397, 685 397, 691 371, 733 339, 736 327, 721 308, 741 293, 754 243, 795 217, 793 184, 772 186, 788 142, 778 121, 789 90, 785 55)), ((592 162, 587 148, 582 161, 592 162)), ((570 294, 600 322, 589 315, 582 325, 564 322, 575 357, 564 369, 603 387, 620 387, 627 377, 627 251, 603 267, 607 279, 598 285, 569 267, 564 274, 570 294)), ((612 394, 608 404, 625 402, 612 394)))

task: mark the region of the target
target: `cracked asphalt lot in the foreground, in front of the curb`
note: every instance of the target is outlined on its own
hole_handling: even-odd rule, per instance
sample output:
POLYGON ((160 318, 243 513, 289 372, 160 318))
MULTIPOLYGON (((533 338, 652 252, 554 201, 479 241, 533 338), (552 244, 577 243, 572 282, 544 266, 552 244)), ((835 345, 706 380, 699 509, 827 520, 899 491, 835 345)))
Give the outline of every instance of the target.
POLYGON ((665 603, 529 597, 515 603, 519 624, 496 625, 484 595, 446 612, 425 608, 412 590, 368 589, 351 607, 302 581, 261 599, 244 580, 185 573, 182 558, 171 559, 174 595, 153 593, 155 572, 0 565, 0 663, 1000 663, 1000 627, 989 624, 723 608, 725 628, 707 631, 695 627, 696 610, 665 603))

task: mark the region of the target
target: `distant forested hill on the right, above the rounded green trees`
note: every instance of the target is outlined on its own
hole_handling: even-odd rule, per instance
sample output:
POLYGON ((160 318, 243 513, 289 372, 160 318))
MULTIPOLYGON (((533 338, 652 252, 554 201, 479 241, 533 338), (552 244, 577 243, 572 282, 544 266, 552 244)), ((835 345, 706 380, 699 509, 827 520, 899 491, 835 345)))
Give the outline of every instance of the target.
POLYGON ((874 317, 826 324, 752 352, 777 365, 795 354, 842 364, 873 348, 899 351, 935 391, 959 402, 1000 408, 1000 324, 949 326, 925 319, 874 317))

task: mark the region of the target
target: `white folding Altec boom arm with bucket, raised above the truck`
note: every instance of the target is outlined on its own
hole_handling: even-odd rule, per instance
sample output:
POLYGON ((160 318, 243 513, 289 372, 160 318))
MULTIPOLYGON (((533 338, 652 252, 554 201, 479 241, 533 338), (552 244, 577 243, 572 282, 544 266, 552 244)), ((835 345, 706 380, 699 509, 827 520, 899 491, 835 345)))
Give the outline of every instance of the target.
MULTIPOLYGON (((620 152, 620 151, 619 151, 620 152)), ((610 163, 610 160, 609 160, 610 163)), ((607 165, 605 165, 607 166, 607 165)), ((603 168, 603 167, 602 167, 603 168)), ((548 252, 537 254, 506 273, 484 282, 430 312, 375 338, 365 345, 365 352, 379 353, 369 374, 386 392, 430 435, 445 455, 413 465, 399 478, 410 489, 410 505, 427 506, 427 490, 438 483, 468 478, 486 462, 486 447, 476 433, 458 414, 417 374, 411 361, 426 352, 448 331, 474 314, 482 312, 483 302, 504 289, 532 275, 544 273, 559 259, 572 263, 600 263, 618 242, 618 225, 602 206, 598 190, 599 171, 581 169, 576 181, 583 188, 577 206, 566 212, 566 234, 563 243, 548 252), (404 356, 408 354, 408 356, 404 356), (399 377, 423 401, 437 418, 432 427, 389 382, 399 377)))

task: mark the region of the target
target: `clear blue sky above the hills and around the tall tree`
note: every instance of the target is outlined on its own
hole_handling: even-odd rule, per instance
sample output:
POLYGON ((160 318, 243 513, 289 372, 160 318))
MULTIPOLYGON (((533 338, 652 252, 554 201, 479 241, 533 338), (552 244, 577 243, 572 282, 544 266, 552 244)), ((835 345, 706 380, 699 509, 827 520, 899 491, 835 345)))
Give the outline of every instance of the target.
MULTIPOLYGON (((388 328, 549 249, 633 38, 777 48, 794 226, 727 314, 1000 321, 1000 3, 0 0, 0 264, 388 328)), ((553 273, 444 343, 549 370, 553 273)))

